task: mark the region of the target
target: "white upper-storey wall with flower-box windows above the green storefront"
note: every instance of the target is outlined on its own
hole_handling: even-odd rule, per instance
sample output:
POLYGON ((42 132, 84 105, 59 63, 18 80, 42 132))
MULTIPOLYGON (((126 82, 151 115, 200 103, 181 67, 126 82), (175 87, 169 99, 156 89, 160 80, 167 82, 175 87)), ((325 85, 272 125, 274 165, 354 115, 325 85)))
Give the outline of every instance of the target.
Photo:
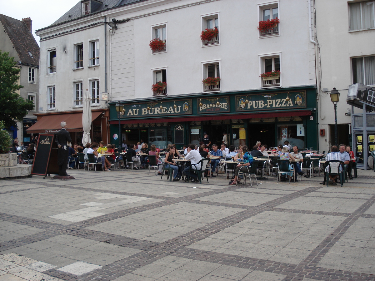
MULTIPOLYGON (((159 1, 165 4, 142 13, 193 2, 197 1, 159 1)), ((282 87, 316 84, 307 1, 280 1, 280 36, 261 39, 257 4, 255 0, 213 1, 119 24, 111 36, 112 100, 151 97, 152 69, 163 67, 167 67, 168 96, 201 93, 202 61, 208 60, 220 60, 221 91, 257 89, 261 87, 259 55, 276 52, 281 53, 282 87), (215 12, 219 12, 220 45, 202 47, 201 15, 215 12), (148 46, 153 38, 151 26, 163 22, 167 28, 167 51, 152 54, 148 46)), ((126 11, 119 8, 108 18, 140 15, 138 11, 126 11)))

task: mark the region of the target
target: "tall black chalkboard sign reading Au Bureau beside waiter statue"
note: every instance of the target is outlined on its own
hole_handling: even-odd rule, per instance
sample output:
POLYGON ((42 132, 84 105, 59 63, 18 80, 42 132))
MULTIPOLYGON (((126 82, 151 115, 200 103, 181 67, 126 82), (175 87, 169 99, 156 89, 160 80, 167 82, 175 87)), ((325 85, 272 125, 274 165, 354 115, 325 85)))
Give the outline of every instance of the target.
POLYGON ((51 173, 58 175, 55 135, 39 134, 31 174, 46 176, 51 173))

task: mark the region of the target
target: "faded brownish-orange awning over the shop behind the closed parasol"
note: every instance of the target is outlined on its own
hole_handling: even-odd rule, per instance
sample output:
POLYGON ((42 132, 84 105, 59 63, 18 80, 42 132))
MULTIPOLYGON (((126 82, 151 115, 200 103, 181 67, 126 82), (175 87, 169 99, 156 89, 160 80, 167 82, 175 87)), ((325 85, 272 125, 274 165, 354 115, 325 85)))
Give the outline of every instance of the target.
MULTIPOLYGON (((102 112, 92 112, 92 121, 94 121, 102 112)), ((33 126, 26 131, 28 134, 36 133, 56 133, 61 129, 60 123, 66 122, 69 132, 83 132, 82 112, 71 114, 44 115, 33 126)))

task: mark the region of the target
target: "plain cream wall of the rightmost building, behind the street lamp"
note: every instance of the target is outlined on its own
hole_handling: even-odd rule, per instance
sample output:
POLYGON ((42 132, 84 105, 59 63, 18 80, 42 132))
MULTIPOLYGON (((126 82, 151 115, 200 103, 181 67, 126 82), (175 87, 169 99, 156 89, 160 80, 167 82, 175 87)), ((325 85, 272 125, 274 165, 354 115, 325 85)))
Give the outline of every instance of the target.
MULTIPOLYGON (((329 93, 335 87, 341 94, 337 105, 337 123, 350 124, 351 116, 345 116, 345 113, 347 113, 347 108, 351 108, 346 103, 348 86, 353 84, 351 57, 375 54, 375 30, 348 32, 348 1, 315 0, 315 6, 321 56, 318 122, 319 129, 326 129, 326 136, 319 137, 319 146, 327 148, 330 141, 329 124, 335 124, 333 104, 329 93), (328 91, 323 91, 324 88, 328 91)), ((361 112, 361 110, 355 109, 355 112, 361 112)))

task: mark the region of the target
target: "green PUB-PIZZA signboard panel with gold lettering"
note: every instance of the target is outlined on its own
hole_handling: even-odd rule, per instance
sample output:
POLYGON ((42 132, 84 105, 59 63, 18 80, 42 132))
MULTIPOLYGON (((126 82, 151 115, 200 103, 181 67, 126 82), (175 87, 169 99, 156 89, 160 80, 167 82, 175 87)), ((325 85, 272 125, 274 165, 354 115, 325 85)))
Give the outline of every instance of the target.
POLYGON ((306 108, 306 91, 236 96, 236 111, 306 108))

